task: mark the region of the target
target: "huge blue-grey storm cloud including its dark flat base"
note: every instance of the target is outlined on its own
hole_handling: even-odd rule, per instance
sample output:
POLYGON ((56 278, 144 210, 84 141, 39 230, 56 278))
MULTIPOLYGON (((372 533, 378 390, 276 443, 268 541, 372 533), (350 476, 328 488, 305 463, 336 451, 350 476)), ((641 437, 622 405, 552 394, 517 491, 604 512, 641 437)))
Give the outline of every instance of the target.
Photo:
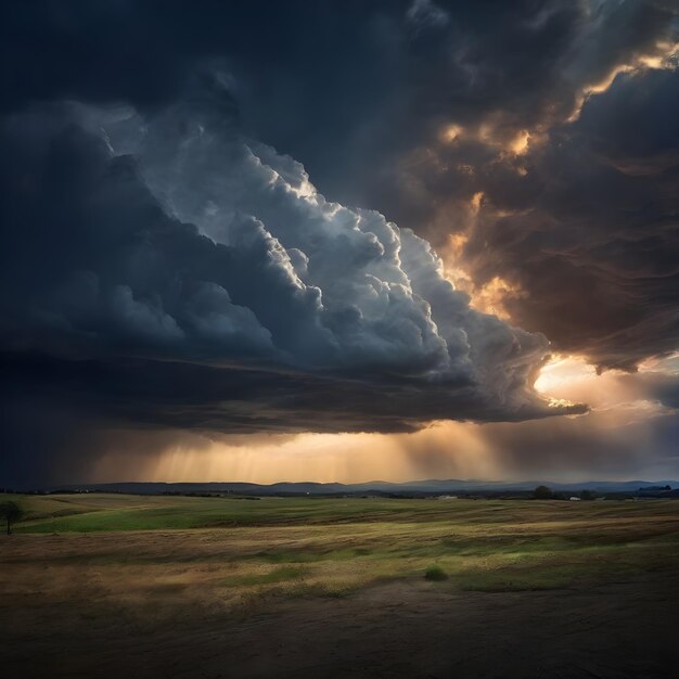
POLYGON ((97 423, 397 432, 568 411, 531 389, 542 335, 470 309, 412 232, 326 202, 298 163, 241 134, 231 101, 217 77, 148 116, 5 116, 10 478, 46 432, 68 458, 97 423))

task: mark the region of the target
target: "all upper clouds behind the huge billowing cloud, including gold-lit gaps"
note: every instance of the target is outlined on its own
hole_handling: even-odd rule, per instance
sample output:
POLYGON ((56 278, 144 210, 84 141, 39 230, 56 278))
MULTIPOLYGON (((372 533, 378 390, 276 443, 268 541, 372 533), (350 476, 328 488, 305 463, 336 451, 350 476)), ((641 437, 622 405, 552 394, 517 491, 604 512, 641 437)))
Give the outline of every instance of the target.
POLYGON ((67 97, 152 112, 219 65, 246 132, 445 257, 451 233, 466 239, 465 289, 509 287, 489 308, 515 324, 602 368, 676 347, 676 2, 4 11, 3 61, 22 65, 2 74, 5 107, 67 97))

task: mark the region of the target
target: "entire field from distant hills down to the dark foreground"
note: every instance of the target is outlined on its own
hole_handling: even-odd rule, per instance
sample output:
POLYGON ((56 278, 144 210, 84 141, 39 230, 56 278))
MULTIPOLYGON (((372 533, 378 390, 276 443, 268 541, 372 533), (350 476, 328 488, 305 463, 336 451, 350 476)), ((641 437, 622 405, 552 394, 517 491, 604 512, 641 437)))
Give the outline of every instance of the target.
POLYGON ((9 676, 679 670, 676 501, 13 499, 9 676))

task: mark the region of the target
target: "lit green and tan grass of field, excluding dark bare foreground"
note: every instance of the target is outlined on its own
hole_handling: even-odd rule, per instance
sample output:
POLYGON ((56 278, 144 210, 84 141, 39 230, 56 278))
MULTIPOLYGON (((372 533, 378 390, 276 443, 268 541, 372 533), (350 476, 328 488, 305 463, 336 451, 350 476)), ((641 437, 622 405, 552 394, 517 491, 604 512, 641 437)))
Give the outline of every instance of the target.
POLYGON ((209 590, 226 606, 271 594, 340 597, 427 569, 439 587, 462 590, 565 588, 663 571, 679 558, 676 501, 14 499, 26 511, 15 533, 43 534, 35 548, 44 534, 60 546, 43 564, 78 561, 101 581, 148 575, 153 591, 197 600, 209 590))

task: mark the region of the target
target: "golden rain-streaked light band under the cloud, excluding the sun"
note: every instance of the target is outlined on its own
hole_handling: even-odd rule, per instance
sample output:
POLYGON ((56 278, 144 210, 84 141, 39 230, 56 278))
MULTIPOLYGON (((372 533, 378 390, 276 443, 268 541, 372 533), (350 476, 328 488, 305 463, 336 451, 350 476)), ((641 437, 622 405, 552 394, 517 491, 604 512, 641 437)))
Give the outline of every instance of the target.
POLYGON ((283 481, 357 483, 408 481, 423 476, 492 477, 496 458, 481 425, 434 423, 413 434, 299 434, 252 445, 200 440, 172 445, 155 456, 112 450, 90 475, 105 481, 134 470, 141 481, 283 481))

